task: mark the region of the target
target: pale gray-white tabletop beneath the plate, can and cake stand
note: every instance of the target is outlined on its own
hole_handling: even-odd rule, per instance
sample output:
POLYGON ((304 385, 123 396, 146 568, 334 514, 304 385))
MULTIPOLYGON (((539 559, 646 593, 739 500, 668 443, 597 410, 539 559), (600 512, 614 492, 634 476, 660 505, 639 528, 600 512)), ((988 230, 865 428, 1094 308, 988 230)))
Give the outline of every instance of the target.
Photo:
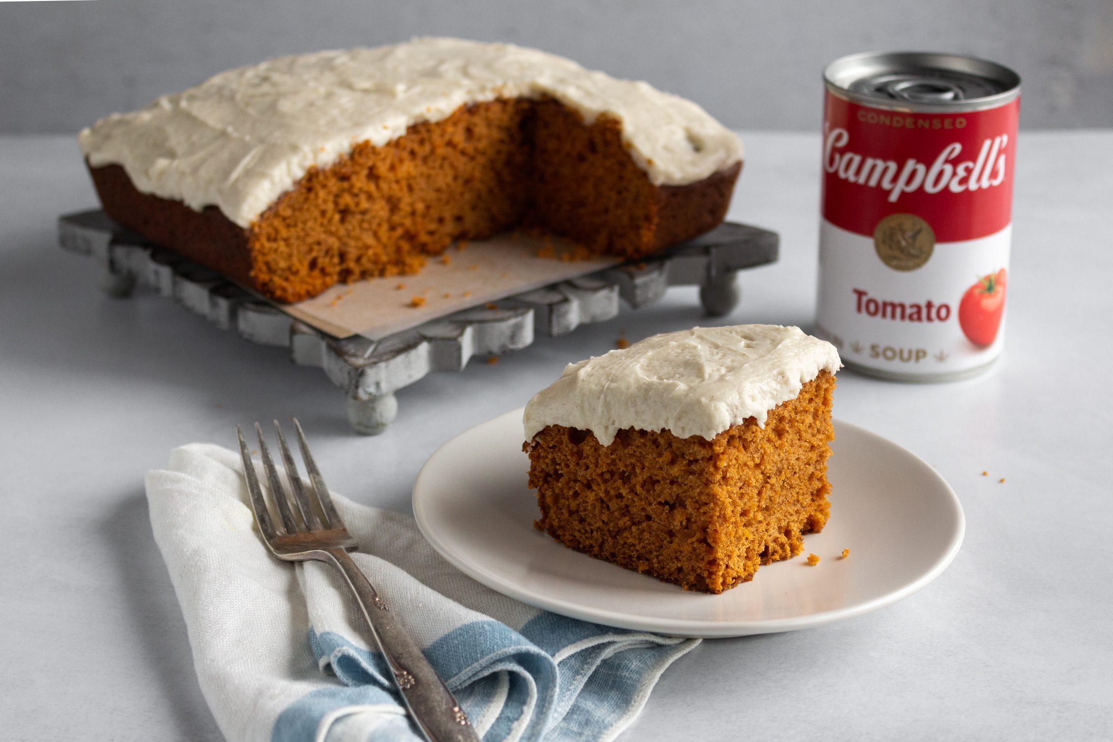
MULTIPOLYGON (((778 230, 782 257, 742 274, 742 303, 720 321, 807 326, 819 139, 746 140, 731 217, 778 230)), ((622 740, 1113 738, 1111 164, 1113 131, 1022 135, 994 370, 938 385, 839 374, 836 415, 919 454, 958 493, 966 542, 949 570, 865 617, 705 642, 622 740)), ((236 423, 297 415, 332 487, 408 511, 436 446, 524 404, 567 362, 611 348, 620 328, 637 339, 707 321, 693 289, 671 289, 496 365, 427 377, 366 438, 348 431, 343 393, 287 350, 149 294, 104 296, 95 264, 55 237, 59 214, 95 206, 71 138, 0 138, 4 739, 220 739, 147 520, 144 473, 170 448, 233 446, 236 423)))

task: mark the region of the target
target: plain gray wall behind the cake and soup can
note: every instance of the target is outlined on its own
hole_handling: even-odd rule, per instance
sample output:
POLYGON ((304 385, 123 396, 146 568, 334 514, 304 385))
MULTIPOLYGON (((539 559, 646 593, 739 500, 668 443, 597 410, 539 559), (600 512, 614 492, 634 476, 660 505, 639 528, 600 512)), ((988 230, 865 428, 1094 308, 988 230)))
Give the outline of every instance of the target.
POLYGON ((229 67, 416 34, 540 47, 746 129, 815 130, 837 56, 959 51, 1021 73, 1027 128, 1113 126, 1113 0, 99 0, 0 2, 0 132, 76 131, 229 67))

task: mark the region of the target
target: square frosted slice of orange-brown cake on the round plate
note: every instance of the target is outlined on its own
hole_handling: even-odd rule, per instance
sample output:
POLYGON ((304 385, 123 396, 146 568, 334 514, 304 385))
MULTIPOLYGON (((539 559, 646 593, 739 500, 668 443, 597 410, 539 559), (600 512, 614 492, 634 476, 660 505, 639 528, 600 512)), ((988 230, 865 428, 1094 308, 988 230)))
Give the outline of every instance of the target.
POLYGON ((546 531, 721 593, 827 522, 838 352, 798 327, 697 327, 571 364, 525 407, 546 531))

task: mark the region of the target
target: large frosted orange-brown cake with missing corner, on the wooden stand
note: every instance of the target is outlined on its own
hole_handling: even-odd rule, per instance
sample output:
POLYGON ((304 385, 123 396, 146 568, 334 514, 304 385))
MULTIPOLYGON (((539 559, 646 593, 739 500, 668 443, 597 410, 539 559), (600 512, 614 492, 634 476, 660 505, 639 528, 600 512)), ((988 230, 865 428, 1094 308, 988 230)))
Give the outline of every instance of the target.
POLYGON ((284 301, 521 225, 642 257, 719 224, 742 159, 646 82, 441 38, 229 70, 78 141, 112 219, 284 301))

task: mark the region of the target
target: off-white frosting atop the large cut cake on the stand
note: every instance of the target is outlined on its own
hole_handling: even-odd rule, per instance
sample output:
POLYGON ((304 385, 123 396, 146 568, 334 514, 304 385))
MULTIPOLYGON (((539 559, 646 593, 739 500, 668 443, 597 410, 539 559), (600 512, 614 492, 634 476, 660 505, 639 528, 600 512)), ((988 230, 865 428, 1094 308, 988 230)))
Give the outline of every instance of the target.
POLYGON ((381 147, 463 105, 542 96, 589 123, 604 112, 619 118, 654 185, 695 182, 742 157, 738 137, 707 111, 647 82, 536 49, 441 38, 228 70, 104 118, 78 142, 90 165, 122 166, 142 192, 197 210, 216 205, 248 227, 309 167, 328 167, 358 142, 381 147))

